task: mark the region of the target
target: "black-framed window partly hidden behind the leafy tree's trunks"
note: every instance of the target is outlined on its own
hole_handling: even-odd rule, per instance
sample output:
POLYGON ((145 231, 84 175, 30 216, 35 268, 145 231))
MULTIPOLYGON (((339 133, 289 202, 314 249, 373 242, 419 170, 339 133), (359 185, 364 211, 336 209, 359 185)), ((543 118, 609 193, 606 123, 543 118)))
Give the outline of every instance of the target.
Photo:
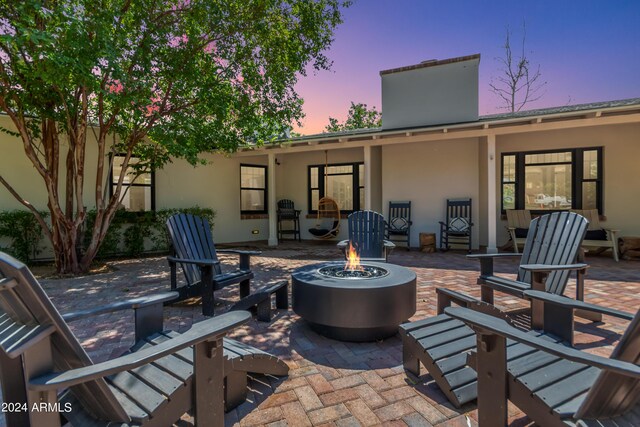
MULTIPOLYGON (((120 173, 122 172, 122 161, 124 156, 113 156, 113 164, 111 166, 111 194, 118 186, 120 173)), ((128 211, 152 211, 155 210, 155 191, 154 191, 154 173, 153 171, 138 168, 140 159, 131 157, 124 180, 122 181, 122 191, 120 202, 128 211)))

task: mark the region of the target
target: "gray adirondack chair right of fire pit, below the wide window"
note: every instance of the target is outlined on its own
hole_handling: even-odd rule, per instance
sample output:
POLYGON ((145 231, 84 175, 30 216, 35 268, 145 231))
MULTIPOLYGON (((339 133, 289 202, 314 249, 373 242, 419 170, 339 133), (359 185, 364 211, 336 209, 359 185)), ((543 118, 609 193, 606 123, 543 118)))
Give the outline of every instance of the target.
MULTIPOLYGON (((569 274, 576 272, 576 299, 584 299, 584 274, 587 264, 576 263, 588 222, 571 212, 554 212, 531 221, 527 241, 520 259, 515 280, 493 274, 493 260, 513 253, 474 254, 468 258, 480 260, 478 284, 482 287, 482 301, 493 304, 494 290, 524 298, 524 291, 540 290, 562 295, 569 274)), ((534 328, 542 327, 542 305, 532 302, 531 322, 534 328)), ((585 315, 590 320, 600 316, 585 315)))

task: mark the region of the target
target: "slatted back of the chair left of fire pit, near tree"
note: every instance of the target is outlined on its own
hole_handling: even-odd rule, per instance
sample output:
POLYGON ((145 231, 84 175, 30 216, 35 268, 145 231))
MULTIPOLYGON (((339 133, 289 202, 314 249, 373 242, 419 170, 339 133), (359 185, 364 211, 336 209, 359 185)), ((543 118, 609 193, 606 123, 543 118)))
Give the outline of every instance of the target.
MULTIPOLYGON (((176 257, 218 260, 211 236, 211 226, 206 218, 179 213, 167 220, 167 230, 176 257)), ((219 264, 214 265, 213 268, 214 274, 222 274, 219 264)), ((200 267, 195 264, 182 264, 182 271, 188 284, 201 280, 200 267)))

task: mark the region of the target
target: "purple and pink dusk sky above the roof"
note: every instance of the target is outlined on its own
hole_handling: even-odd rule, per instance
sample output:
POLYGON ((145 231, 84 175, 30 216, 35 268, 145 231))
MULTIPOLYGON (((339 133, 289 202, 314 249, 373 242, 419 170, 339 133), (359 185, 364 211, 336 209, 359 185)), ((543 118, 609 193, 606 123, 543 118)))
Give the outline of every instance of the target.
POLYGON ((640 1, 355 0, 344 11, 328 56, 331 71, 301 77, 303 134, 319 133, 329 117, 344 120, 350 102, 381 107, 380 70, 481 54, 480 115, 504 112, 489 91, 503 56, 522 41, 547 82, 524 109, 640 97, 640 1))

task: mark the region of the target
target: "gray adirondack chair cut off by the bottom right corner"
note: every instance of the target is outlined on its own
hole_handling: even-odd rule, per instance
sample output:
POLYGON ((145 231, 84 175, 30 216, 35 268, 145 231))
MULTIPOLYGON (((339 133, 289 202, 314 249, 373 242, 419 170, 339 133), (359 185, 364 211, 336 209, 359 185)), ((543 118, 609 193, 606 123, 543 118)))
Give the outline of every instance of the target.
POLYGON ((447 308, 477 334, 478 422, 506 426, 507 399, 541 426, 640 425, 640 310, 610 358, 585 353, 464 308, 447 308), (509 354, 517 349, 519 357, 509 354))

